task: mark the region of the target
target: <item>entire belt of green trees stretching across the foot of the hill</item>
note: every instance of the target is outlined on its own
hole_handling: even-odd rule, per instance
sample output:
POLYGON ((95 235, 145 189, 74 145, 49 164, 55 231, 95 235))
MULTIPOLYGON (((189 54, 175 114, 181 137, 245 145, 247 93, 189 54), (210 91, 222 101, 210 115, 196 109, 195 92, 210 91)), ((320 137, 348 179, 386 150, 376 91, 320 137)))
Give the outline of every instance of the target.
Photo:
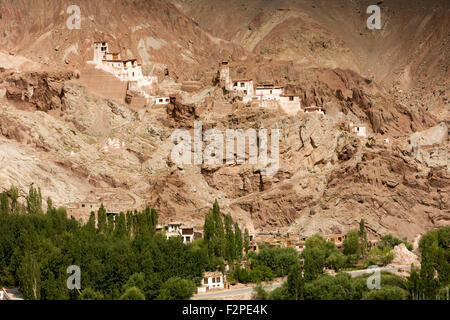
POLYGON ((421 269, 407 280, 382 272, 381 288, 369 290, 369 274, 352 278, 324 270, 387 264, 391 249, 406 239, 384 236, 371 247, 365 233, 349 232, 343 250, 320 235, 306 240, 299 255, 294 248, 249 251, 249 232, 231 216, 223 216, 215 201, 205 217, 204 239, 183 244, 156 233, 154 209, 108 216, 103 205, 82 225, 47 200, 42 209, 40 189, 30 187, 25 204, 17 188, 0 193, 0 286, 19 286, 26 299, 189 299, 207 270, 230 267, 228 280, 260 283, 287 275, 271 292, 258 285, 257 299, 277 300, 400 300, 450 299, 450 227, 424 234, 419 242, 421 269), (66 285, 67 267, 81 269, 82 294, 66 285))

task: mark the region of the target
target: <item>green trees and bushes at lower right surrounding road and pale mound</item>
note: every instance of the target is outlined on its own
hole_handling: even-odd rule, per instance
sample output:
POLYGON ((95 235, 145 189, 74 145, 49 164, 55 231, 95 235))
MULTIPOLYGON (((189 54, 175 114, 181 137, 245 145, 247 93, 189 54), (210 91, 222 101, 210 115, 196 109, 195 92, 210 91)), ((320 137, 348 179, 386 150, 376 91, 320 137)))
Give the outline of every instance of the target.
MULTIPOLYGON (((256 299, 264 300, 450 300, 450 227, 442 227, 424 234, 419 242, 421 269, 411 266, 407 279, 381 272, 380 288, 368 288, 372 274, 352 278, 347 273, 335 276, 323 274, 324 261, 335 254, 332 246, 320 236, 307 239, 308 249, 302 252, 304 268, 293 266, 287 281, 271 292, 258 286, 256 299), (309 244, 309 247, 308 247, 309 244), (331 252, 331 253, 330 253, 331 252)), ((387 251, 385 246, 372 250, 387 251)), ((360 249, 346 251, 352 255, 360 249)), ((371 250, 371 251, 372 251, 371 250)), ((369 253, 370 255, 370 253, 369 253)))

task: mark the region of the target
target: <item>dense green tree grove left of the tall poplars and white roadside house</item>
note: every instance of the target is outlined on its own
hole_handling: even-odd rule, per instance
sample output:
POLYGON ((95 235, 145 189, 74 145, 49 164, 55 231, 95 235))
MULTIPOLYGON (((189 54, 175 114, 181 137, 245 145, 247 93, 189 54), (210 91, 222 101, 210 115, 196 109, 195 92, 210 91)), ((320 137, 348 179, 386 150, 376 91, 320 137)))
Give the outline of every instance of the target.
POLYGON ((103 206, 81 225, 65 210, 42 210, 39 189, 26 205, 11 188, 0 194, 0 285, 25 299, 188 299, 208 266, 206 249, 155 233, 155 210, 120 213, 103 206), (81 269, 81 296, 66 285, 67 267, 81 269))

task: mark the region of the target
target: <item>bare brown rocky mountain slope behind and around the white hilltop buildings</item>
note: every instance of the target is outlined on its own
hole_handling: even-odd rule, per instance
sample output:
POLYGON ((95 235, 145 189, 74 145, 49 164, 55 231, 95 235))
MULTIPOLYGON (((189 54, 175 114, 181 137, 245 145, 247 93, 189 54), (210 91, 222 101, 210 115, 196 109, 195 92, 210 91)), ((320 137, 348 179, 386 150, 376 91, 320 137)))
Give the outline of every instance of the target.
POLYGON ((369 31, 365 1, 81 1, 81 30, 68 30, 68 1, 0 0, 0 188, 149 204, 197 226, 218 199, 254 233, 339 233, 364 218, 372 237, 414 239, 450 221, 449 11, 431 2, 383 1, 383 29, 369 31), (96 40, 137 57, 177 102, 100 94, 85 65, 96 40), (287 85, 325 115, 242 104, 215 81, 223 60, 234 79, 287 85), (194 120, 280 129, 277 174, 176 165, 171 134, 194 120))

